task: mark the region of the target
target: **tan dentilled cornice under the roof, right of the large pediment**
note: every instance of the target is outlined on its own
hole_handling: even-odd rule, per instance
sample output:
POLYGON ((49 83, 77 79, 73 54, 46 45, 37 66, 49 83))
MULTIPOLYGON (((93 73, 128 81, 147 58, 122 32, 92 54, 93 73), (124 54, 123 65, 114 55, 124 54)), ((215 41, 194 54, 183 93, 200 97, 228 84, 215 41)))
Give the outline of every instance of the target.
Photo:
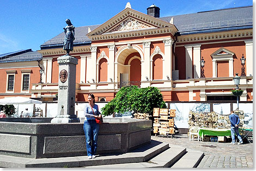
POLYGON ((200 42, 209 40, 225 40, 243 37, 252 37, 253 30, 235 30, 235 31, 223 31, 215 33, 202 33, 193 35, 182 35, 178 36, 176 43, 187 43, 187 42, 200 42))

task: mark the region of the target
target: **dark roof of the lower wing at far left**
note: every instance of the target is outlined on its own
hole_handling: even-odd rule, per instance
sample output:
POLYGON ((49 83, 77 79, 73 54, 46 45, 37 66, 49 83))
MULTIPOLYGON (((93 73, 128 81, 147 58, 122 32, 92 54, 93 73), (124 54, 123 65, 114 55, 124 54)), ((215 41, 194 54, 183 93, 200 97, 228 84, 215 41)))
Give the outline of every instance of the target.
POLYGON ((0 54, 0 63, 3 62, 22 62, 22 61, 37 61, 42 59, 42 54, 33 52, 32 49, 18 50, 0 54))

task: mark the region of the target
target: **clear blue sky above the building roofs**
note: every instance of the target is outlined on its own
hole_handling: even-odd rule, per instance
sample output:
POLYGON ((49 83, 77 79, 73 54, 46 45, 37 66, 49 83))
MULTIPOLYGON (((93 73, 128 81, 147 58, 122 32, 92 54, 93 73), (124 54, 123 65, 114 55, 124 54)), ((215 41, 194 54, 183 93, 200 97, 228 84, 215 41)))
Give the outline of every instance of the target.
POLYGON ((62 33, 66 18, 75 27, 102 24, 125 8, 147 14, 153 3, 160 17, 252 5, 252 0, 2 0, 0 2, 0 54, 40 45, 62 33))

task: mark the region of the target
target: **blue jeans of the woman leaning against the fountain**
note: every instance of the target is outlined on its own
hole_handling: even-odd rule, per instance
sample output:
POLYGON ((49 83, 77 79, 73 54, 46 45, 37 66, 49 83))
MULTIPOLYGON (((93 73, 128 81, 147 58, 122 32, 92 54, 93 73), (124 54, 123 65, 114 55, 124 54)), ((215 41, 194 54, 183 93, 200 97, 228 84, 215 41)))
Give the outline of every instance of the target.
POLYGON ((84 135, 86 136, 86 150, 88 156, 96 154, 99 128, 100 125, 96 123, 95 119, 88 119, 83 123, 84 135))

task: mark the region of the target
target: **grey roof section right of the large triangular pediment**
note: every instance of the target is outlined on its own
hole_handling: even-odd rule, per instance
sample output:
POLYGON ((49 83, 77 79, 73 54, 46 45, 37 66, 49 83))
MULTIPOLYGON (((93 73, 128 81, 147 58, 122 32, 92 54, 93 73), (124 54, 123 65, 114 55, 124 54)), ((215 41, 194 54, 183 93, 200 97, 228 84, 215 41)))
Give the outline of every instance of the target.
POLYGON ((252 28, 253 7, 227 8, 212 11, 202 11, 160 19, 173 23, 180 34, 208 33, 233 29, 252 28))

